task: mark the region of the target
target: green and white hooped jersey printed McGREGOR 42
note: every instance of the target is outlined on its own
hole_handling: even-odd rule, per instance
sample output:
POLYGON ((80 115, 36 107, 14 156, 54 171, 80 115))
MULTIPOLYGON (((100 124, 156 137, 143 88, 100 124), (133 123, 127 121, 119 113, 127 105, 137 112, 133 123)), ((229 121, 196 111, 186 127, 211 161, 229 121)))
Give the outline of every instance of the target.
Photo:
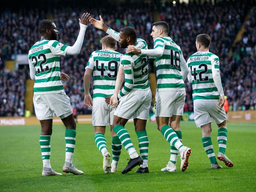
POLYGON ((218 100, 220 94, 212 72, 220 71, 219 57, 208 51, 198 51, 188 58, 187 65, 192 77, 193 100, 218 100))

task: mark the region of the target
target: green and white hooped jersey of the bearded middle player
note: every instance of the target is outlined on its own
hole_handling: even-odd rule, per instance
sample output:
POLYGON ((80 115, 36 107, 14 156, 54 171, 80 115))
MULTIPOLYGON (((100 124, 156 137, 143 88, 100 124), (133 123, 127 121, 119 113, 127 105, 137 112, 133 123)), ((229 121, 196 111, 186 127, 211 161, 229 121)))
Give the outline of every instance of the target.
MULTIPOLYGON (((140 49, 148 49, 146 41, 140 39, 135 47, 140 49)), ((126 53, 121 59, 121 65, 124 68, 125 83, 122 90, 118 94, 118 98, 127 95, 131 90, 148 89, 148 56, 126 53)))

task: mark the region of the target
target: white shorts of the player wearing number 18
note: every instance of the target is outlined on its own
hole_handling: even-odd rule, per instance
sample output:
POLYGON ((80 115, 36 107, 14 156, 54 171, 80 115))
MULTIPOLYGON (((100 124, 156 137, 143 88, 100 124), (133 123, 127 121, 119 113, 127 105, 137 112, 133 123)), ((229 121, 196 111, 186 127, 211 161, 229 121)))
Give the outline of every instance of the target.
POLYGON ((183 116, 185 91, 156 91, 156 117, 183 116))

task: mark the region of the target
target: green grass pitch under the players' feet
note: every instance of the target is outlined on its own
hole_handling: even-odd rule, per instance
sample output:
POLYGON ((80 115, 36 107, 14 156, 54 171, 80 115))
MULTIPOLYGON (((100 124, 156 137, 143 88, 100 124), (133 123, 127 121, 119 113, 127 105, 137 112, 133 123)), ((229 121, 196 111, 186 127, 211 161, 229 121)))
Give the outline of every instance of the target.
MULTIPOLYGON (((226 155, 234 167, 223 166, 212 170, 202 146, 201 129, 195 123, 181 122, 182 143, 192 149, 189 167, 181 172, 180 159, 176 172, 161 172, 170 157, 170 146, 156 129, 156 123, 147 123, 150 141, 148 167, 150 173, 138 174, 134 168, 128 174, 121 171, 128 163, 128 153, 122 148, 118 172, 105 174, 102 155, 94 142, 90 124, 77 124, 76 148, 73 163, 83 175, 65 174, 42 177, 42 159, 39 145, 40 125, 0 127, 0 191, 256 191, 256 126, 255 123, 228 123, 226 155)), ((138 150, 133 123, 127 123, 132 142, 138 150)), ((64 125, 54 125, 51 138, 51 165, 62 172, 65 160, 64 125)), ((108 150, 111 135, 106 128, 108 150)), ((212 143, 218 153, 217 127, 212 123, 212 143)))

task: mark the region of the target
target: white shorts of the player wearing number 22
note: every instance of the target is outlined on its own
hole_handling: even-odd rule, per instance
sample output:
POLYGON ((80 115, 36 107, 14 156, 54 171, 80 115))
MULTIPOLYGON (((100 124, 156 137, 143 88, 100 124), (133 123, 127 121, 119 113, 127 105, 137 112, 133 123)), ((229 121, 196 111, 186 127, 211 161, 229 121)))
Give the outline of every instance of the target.
POLYGON ((73 113, 70 99, 65 92, 34 95, 33 102, 38 120, 52 119, 54 113, 63 119, 73 113))

